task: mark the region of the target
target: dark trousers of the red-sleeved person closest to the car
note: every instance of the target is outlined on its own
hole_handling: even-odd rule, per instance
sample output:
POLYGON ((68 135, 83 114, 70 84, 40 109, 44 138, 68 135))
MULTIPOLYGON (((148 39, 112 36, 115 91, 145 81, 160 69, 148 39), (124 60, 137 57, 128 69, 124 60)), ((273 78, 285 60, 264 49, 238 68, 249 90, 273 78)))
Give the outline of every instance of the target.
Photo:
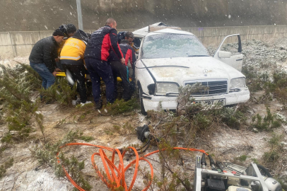
POLYGON ((122 85, 124 88, 122 98, 124 100, 131 99, 130 83, 129 83, 129 67, 117 61, 110 62, 110 65, 112 66, 112 75, 114 76, 114 83, 115 83, 114 98, 117 98, 116 84, 117 84, 117 76, 119 76, 122 79, 122 85))

